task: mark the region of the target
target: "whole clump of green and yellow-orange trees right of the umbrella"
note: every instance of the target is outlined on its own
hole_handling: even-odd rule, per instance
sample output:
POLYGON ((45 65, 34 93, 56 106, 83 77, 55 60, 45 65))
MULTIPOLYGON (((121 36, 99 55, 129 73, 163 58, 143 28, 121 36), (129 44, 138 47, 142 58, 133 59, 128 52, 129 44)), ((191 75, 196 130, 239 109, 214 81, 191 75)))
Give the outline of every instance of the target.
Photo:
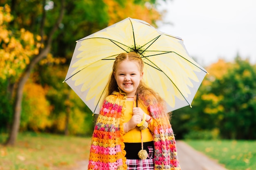
POLYGON ((206 70, 193 107, 173 111, 178 138, 256 139, 256 66, 237 56, 232 62, 219 59, 206 70))

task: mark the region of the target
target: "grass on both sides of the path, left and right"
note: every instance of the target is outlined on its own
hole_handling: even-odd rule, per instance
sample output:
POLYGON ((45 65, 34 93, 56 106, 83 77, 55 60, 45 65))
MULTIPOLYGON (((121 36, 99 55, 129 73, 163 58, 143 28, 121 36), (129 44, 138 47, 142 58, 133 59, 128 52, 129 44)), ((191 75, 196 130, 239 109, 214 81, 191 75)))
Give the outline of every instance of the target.
MULTIPOLYGON (((0 143, 7 134, 0 134, 0 143)), ((20 133, 15 146, 0 144, 0 170, 61 170, 89 157, 90 138, 20 133)), ((187 140, 229 170, 256 170, 256 141, 187 140)))

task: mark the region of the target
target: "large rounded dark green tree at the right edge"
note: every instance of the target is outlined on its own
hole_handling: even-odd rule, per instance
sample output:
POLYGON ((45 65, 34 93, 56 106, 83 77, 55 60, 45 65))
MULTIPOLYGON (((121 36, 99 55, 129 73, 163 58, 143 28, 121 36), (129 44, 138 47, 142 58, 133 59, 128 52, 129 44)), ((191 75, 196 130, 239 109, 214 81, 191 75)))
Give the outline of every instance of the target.
POLYGON ((211 90, 222 106, 220 133, 228 139, 256 139, 256 70, 248 60, 236 57, 232 68, 211 90))

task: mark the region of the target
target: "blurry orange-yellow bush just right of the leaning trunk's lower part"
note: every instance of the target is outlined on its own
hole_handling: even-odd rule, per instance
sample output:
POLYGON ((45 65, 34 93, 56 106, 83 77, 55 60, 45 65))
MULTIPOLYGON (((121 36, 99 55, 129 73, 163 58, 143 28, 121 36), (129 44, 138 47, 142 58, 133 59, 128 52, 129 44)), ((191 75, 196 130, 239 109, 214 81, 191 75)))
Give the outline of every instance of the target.
POLYGON ((23 122, 23 129, 27 127, 38 131, 39 129, 45 129, 51 125, 49 115, 51 113, 51 107, 47 101, 45 89, 41 85, 35 83, 26 83, 24 87, 24 102, 22 106, 22 117, 27 122, 23 122))

